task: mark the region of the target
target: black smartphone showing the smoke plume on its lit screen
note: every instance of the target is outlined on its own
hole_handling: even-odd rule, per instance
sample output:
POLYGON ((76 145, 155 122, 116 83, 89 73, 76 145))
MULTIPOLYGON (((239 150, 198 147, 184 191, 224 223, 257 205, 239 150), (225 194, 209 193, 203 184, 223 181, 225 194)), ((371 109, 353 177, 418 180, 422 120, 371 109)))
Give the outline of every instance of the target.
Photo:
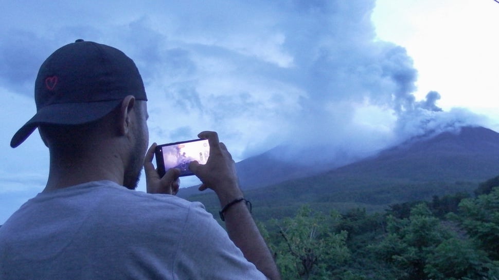
POLYGON ((156 146, 156 166, 159 176, 163 177, 171 168, 179 168, 180 176, 194 175, 189 164, 197 161, 206 164, 210 155, 208 139, 194 139, 156 146))

